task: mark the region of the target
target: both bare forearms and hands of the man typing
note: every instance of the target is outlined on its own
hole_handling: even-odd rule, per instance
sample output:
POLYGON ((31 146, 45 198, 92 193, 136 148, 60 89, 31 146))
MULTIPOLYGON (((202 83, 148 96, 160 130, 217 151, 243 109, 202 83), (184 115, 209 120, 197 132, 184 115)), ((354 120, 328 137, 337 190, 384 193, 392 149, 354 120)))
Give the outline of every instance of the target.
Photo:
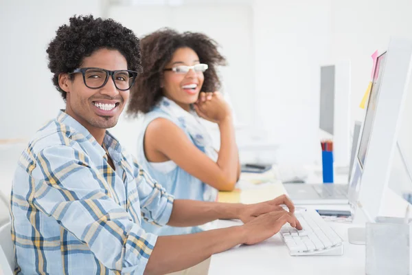
POLYGON ((211 254, 235 245, 259 243, 279 232, 285 223, 301 230, 294 210, 292 201, 286 195, 253 205, 175 199, 168 225, 194 226, 215 219, 242 219, 244 225, 196 234, 159 236, 146 273, 168 274, 196 265, 211 254), (284 210, 282 204, 286 204, 289 211, 284 210), (179 248, 178 253, 176 248, 179 248))

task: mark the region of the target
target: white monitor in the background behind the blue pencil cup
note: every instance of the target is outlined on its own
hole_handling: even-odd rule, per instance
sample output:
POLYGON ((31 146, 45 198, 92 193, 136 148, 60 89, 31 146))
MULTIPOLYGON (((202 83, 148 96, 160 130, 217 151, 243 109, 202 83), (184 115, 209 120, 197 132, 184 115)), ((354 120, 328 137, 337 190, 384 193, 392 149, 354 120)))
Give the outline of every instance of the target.
POLYGON ((350 164, 350 63, 321 66, 319 138, 334 142, 334 164, 350 164))

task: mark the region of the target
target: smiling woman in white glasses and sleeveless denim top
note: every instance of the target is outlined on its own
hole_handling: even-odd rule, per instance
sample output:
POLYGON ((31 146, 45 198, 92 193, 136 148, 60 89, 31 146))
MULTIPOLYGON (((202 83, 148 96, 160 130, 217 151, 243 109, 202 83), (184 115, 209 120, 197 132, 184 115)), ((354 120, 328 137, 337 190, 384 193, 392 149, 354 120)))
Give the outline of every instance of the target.
MULTIPOLYGON (((233 118, 218 91, 218 65, 225 58, 205 34, 163 29, 141 39, 144 72, 130 93, 128 113, 145 113, 137 157, 152 177, 179 199, 215 201, 233 190, 240 166, 233 118), (218 124, 220 151, 199 118, 218 124)), ((159 228, 156 234, 185 234, 201 228, 159 228)))

